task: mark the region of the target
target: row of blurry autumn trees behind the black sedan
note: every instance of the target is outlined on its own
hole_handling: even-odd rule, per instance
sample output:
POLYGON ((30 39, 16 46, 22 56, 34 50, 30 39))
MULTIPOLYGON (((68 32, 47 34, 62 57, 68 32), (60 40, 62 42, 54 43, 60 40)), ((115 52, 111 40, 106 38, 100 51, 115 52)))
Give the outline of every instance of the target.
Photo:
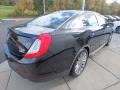
MULTIPOLYGON (((65 9, 81 10, 83 0, 45 0, 46 12, 65 9)), ((101 14, 120 15, 120 4, 106 3, 106 0, 86 0, 85 9, 96 11, 101 14)), ((28 14, 42 15, 43 0, 16 0, 13 15, 24 16, 28 14)))

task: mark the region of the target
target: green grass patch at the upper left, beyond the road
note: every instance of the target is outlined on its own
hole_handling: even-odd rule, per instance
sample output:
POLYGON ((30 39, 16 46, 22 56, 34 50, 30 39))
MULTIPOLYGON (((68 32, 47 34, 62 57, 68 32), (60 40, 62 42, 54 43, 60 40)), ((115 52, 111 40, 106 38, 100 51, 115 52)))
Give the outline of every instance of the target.
POLYGON ((13 8, 13 6, 0 5, 0 20, 4 18, 9 18, 9 14, 13 12, 13 8))

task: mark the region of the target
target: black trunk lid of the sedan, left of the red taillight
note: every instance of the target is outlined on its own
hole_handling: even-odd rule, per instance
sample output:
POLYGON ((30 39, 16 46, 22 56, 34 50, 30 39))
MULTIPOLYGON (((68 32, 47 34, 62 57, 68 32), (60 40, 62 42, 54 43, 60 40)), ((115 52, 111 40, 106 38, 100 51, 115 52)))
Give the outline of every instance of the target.
POLYGON ((37 39, 38 35, 52 31, 53 29, 42 27, 9 28, 7 40, 8 49, 13 56, 21 60, 37 39))

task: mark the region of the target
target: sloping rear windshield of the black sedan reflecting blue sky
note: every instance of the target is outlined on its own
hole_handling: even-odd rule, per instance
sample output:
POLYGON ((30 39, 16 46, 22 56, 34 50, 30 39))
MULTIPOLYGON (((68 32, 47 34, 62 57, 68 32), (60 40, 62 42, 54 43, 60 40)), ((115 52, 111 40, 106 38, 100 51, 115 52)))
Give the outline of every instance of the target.
POLYGON ((41 16, 28 23, 29 26, 42 26, 46 28, 56 29, 67 19, 73 16, 73 12, 54 12, 45 16, 41 16))

